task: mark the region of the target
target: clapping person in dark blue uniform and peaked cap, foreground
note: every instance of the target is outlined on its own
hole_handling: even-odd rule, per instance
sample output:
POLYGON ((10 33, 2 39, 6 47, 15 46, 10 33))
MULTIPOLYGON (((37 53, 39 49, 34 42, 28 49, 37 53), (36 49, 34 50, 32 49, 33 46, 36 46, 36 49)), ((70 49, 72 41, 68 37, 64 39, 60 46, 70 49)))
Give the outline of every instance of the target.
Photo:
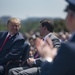
POLYGON ((41 75, 75 75, 75 0, 66 1, 69 3, 66 9, 66 26, 72 32, 72 37, 67 43, 62 43, 58 52, 51 48, 49 39, 47 44, 41 39, 36 40, 36 47, 41 56, 53 59, 51 63, 46 61, 42 64, 41 75))

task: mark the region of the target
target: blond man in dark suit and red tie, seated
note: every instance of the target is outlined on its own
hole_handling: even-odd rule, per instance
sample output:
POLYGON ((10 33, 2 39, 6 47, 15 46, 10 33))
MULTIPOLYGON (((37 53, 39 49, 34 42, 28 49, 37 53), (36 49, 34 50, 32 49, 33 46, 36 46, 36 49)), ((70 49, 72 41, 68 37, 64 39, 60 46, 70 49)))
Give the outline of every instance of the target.
POLYGON ((7 21, 8 31, 0 32, 0 75, 3 75, 4 66, 10 60, 20 59, 24 49, 24 38, 19 29, 21 22, 18 18, 7 21))

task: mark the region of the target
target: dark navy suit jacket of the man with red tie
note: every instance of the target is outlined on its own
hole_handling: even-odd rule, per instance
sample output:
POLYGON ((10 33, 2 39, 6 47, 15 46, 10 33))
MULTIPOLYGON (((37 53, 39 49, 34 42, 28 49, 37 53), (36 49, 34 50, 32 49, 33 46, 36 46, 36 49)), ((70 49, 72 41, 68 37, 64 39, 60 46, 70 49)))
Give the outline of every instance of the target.
MULTIPOLYGON (((0 32, 0 47, 2 46, 8 32, 0 32)), ((24 48, 24 38, 21 33, 13 35, 0 51, 0 65, 6 64, 9 60, 20 59, 24 48)))

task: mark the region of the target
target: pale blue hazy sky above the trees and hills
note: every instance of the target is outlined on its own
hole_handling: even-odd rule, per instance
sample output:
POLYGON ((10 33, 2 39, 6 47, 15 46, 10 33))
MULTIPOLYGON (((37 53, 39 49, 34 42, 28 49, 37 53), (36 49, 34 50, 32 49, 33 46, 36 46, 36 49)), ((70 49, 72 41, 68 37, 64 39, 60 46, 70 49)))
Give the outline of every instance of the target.
POLYGON ((0 17, 12 16, 65 18, 65 0, 0 0, 0 17))

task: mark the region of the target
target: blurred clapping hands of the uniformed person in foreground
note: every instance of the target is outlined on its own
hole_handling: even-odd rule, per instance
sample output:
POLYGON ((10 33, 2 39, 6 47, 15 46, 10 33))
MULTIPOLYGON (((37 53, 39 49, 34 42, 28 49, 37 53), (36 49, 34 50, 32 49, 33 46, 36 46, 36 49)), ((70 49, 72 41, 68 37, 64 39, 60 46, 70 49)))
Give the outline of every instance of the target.
POLYGON ((48 38, 46 40, 46 42, 44 42, 40 38, 37 38, 36 41, 35 41, 35 45, 36 45, 36 48, 37 48, 39 54, 43 58, 50 57, 50 58, 54 59, 54 57, 57 54, 57 49, 53 48, 53 43, 50 40, 50 38, 48 38))

